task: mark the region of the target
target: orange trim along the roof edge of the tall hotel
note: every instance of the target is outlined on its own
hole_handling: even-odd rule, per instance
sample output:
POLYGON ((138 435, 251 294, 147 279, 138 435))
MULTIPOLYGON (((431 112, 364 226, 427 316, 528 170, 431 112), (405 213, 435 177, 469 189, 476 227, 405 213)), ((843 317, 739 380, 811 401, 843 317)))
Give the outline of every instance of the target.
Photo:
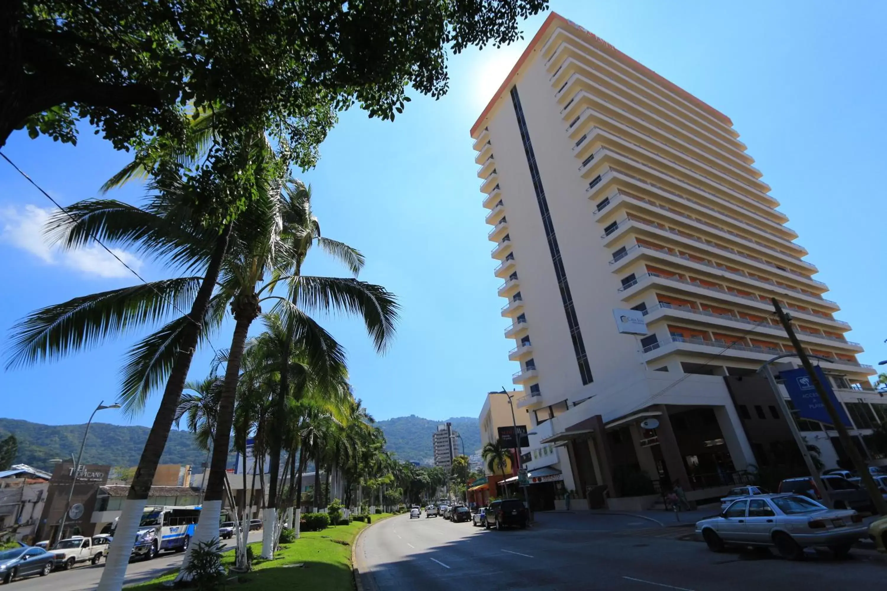
POLYGON ((505 82, 502 82, 502 84, 499 86, 498 90, 496 90, 496 94, 493 95, 493 97, 490 99, 490 102, 487 103, 486 107, 484 107, 483 113, 481 113, 481 116, 477 118, 477 121, 475 121, 475 124, 471 128, 471 136, 475 136, 475 133, 477 132, 477 129, 480 128, 481 124, 483 123, 483 120, 486 119, 487 115, 490 114, 490 112, 493 108, 493 105, 496 104, 496 101, 498 101, 498 98, 502 95, 503 91, 505 91, 505 89, 511 85, 512 81, 514 80, 514 76, 518 73, 518 71, 520 71, 521 67, 523 66, 523 63, 527 60, 527 58, 530 57, 530 53, 532 53, 532 51, 536 48, 539 41, 541 41, 542 37, 545 36, 547 29, 551 26, 551 24, 555 20, 557 20, 561 24, 568 25, 569 27, 574 27, 578 31, 585 33, 585 35, 588 37, 588 39, 591 41, 591 43, 593 45, 595 45, 598 49, 600 49, 604 53, 608 54, 611 58, 616 58, 617 61, 622 62, 624 65, 630 66, 630 67, 632 67, 632 69, 638 70, 641 74, 646 75, 651 81, 659 84, 660 86, 663 86, 663 88, 665 88, 665 89, 671 90, 671 92, 674 92, 679 97, 686 99, 688 102, 692 103, 693 105, 698 106, 705 113, 709 113, 712 117, 714 117, 718 121, 721 121, 722 123, 724 123, 730 127, 733 127, 733 121, 730 121, 730 118, 727 117, 724 113, 721 113, 720 111, 718 111, 718 109, 714 108, 711 105, 708 105, 707 103, 700 100, 699 98, 694 97, 692 94, 687 92, 687 90, 680 88, 674 82, 669 82, 668 80, 663 78, 663 76, 656 74, 653 70, 651 70, 647 66, 644 66, 639 61, 625 55, 622 51, 617 50, 615 47, 613 47, 613 45, 611 45, 610 43, 607 43, 606 41, 601 39, 598 35, 594 35, 591 31, 588 31, 587 29, 585 29, 585 27, 580 27, 572 20, 563 18, 557 12, 552 12, 551 14, 548 15, 548 18, 542 24, 542 27, 539 27, 539 30, 536 32, 536 35, 533 35, 532 40, 530 40, 530 44, 527 45, 527 49, 525 49, 523 51, 523 53, 521 54, 521 57, 518 58, 517 63, 515 63, 514 67, 511 68, 511 72, 509 72, 508 75, 506 76, 505 82))

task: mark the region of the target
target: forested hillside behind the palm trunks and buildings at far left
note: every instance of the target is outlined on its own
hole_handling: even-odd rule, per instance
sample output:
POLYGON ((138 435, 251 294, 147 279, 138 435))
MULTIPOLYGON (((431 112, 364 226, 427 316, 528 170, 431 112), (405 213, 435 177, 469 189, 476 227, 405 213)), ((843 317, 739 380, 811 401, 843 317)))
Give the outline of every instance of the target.
MULTIPOLYGON (((10 433, 19 440, 19 454, 14 463, 27 463, 35 468, 52 470, 53 458, 70 458, 77 453, 83 438, 84 424, 49 425, 28 423, 11 418, 0 418, 0 438, 10 433)), ((83 463, 111 466, 135 466, 148 439, 147 427, 93 423, 83 448, 83 463)), ((169 433, 161 463, 181 463, 200 466, 206 462, 206 452, 194 444, 190 432, 169 433)), ((200 469, 196 470, 200 471, 200 469)))

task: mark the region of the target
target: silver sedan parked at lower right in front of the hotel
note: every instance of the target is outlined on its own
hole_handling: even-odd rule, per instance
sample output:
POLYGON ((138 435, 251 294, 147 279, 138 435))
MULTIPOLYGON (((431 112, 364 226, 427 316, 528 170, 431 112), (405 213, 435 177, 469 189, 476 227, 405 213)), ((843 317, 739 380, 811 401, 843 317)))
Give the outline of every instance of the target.
POLYGON ((852 509, 827 509, 800 494, 761 494, 734 501, 718 517, 696 523, 696 535, 713 552, 725 546, 775 546, 782 557, 800 560, 804 548, 812 546, 847 556, 867 530, 852 509))

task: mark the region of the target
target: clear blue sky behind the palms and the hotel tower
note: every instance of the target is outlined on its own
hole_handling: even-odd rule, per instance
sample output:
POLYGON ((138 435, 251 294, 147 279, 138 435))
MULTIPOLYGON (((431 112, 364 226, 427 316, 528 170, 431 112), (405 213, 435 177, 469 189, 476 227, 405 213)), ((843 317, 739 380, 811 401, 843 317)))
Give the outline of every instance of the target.
MULTIPOLYGON (((883 313, 887 199, 887 4, 825 2, 558 2, 554 11, 726 113, 789 215, 806 258, 820 268, 867 348, 861 362, 887 359, 883 313)), ((476 416, 484 393, 511 387, 514 343, 502 336, 500 283, 492 274, 475 152, 468 130, 545 19, 523 25, 525 41, 451 58, 451 90, 439 101, 412 95, 396 121, 343 113, 302 175, 328 237, 365 253, 361 278, 395 292, 403 307, 394 345, 380 357, 361 323, 325 325, 349 350, 351 380, 373 416, 476 416)), ((76 147, 31 141, 21 132, 4 152, 62 204, 96 195, 127 154, 84 125, 76 147)), ((115 197, 135 200, 131 187, 115 197)), ((98 250, 59 253, 43 245, 49 202, 0 162, 0 330, 31 310, 135 279, 98 250)), ((161 268, 122 253, 148 278, 161 268)), ((344 275, 316 253, 306 272, 344 275)), ((0 415, 49 424, 82 423, 99 400, 114 400, 122 354, 137 335, 61 362, 0 370, 0 415)), ((214 338, 227 346, 230 332, 214 338)), ((192 378, 208 371, 200 351, 192 378)), ((155 397, 134 424, 151 424, 155 397)), ((106 410, 97 418, 130 420, 106 410)))

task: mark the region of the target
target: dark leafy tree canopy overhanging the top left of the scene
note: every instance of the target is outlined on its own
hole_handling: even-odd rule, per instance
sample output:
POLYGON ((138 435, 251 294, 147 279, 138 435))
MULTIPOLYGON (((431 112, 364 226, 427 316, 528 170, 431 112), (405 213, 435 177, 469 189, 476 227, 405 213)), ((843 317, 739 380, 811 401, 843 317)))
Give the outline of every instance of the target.
MULTIPOLYGON (((447 54, 521 38, 546 0, 6 0, 0 147, 27 128, 74 143, 86 119, 118 149, 177 144, 218 111, 200 177, 250 184, 245 137, 270 133, 313 166, 336 113, 403 112, 407 87, 442 97, 447 54)), ((206 180, 206 178, 204 178, 206 180)), ((204 197, 207 197, 204 195, 204 197)), ((216 195, 216 197, 223 197, 216 195)), ((242 201, 243 196, 235 197, 242 201)))

